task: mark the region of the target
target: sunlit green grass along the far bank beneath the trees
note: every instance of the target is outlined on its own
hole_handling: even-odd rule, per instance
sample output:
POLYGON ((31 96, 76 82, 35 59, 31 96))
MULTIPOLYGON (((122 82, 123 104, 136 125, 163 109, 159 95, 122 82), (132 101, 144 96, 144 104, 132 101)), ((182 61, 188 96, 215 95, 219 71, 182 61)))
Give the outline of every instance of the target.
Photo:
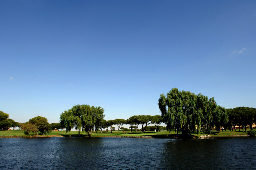
MULTIPOLYGON (((162 131, 162 132, 146 132, 146 133, 141 133, 141 132, 125 132, 126 134, 123 134, 123 132, 119 131, 100 131, 98 133, 93 132, 91 134, 91 137, 108 137, 108 136, 152 136, 152 137, 160 137, 160 136, 168 136, 168 135, 173 135, 174 131, 162 131)), ((52 135, 54 136, 62 136, 62 135, 77 135, 77 131, 70 131, 66 133, 66 131, 52 131, 51 133, 47 133, 46 135, 41 135, 41 136, 48 136, 51 137, 52 135)), ((81 132, 81 135, 86 135, 85 132, 81 132)), ((30 135, 25 135, 23 130, 0 130, 0 137, 30 137, 36 135, 35 133, 31 133, 30 135)), ((206 134, 196 134, 196 133, 191 133, 191 135, 198 136, 200 137, 201 135, 206 135, 206 134)), ((239 131, 220 131, 218 132, 213 132, 213 134, 210 134, 210 136, 213 137, 223 137, 223 136, 235 136, 235 135, 247 135, 247 133, 239 132, 239 131)), ((39 135, 40 136, 40 135, 39 135)))

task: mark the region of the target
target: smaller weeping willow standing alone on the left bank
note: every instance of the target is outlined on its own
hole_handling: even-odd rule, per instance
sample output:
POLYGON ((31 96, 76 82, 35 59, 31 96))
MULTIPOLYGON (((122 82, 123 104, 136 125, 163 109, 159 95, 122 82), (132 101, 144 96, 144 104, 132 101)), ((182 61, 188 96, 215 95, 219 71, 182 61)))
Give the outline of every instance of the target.
POLYGON ((103 113, 104 109, 101 107, 75 105, 60 115, 60 123, 66 128, 66 133, 74 128, 78 134, 84 131, 89 135, 94 127, 100 127, 105 116, 103 113))

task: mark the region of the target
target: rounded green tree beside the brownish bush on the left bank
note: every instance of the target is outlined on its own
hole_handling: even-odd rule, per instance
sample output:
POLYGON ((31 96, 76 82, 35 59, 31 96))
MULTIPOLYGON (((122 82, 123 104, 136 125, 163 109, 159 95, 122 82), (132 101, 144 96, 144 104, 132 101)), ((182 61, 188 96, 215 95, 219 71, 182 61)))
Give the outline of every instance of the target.
POLYGON ((46 134, 51 132, 51 126, 45 117, 34 117, 29 119, 29 123, 34 124, 37 127, 39 134, 46 134))

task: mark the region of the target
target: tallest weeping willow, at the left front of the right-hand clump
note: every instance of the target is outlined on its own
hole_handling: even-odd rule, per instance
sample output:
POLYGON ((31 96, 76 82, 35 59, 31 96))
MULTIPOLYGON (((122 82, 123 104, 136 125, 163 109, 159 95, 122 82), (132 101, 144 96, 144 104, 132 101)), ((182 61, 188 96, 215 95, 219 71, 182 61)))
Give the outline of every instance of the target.
POLYGON ((188 134, 197 126, 197 133, 200 133, 203 114, 197 109, 197 95, 194 93, 173 88, 167 96, 160 95, 158 106, 168 130, 188 134))

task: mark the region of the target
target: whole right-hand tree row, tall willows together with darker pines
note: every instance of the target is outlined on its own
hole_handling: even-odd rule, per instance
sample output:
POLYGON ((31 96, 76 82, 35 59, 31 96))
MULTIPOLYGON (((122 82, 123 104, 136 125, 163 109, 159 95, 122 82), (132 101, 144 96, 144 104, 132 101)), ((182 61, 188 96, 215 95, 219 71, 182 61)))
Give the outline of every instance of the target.
POLYGON ((158 106, 167 129, 183 134, 195 130, 200 133, 200 129, 209 134, 214 127, 217 131, 227 128, 233 131, 236 125, 239 125, 239 131, 242 126, 243 132, 246 132, 246 126, 249 125, 252 130, 256 121, 255 108, 225 109, 217 105, 213 97, 208 100, 202 94, 179 91, 177 88, 170 90, 166 96, 161 94, 158 106))

